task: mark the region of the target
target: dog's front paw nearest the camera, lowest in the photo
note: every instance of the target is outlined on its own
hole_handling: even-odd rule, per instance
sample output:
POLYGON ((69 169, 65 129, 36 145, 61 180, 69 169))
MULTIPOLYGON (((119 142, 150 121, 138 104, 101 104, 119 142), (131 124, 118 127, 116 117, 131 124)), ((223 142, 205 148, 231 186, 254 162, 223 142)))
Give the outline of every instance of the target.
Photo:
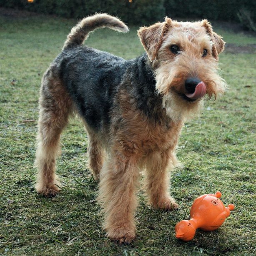
POLYGON ((119 244, 130 244, 136 237, 135 231, 125 231, 121 228, 109 230, 107 236, 119 244))

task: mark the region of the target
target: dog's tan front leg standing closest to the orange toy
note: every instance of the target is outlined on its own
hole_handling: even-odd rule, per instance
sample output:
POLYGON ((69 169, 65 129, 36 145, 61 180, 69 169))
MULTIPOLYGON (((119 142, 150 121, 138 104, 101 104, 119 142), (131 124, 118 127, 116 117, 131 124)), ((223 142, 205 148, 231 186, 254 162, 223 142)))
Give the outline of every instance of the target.
POLYGON ((174 165, 171 162, 176 162, 176 157, 169 150, 154 152, 146 161, 146 193, 149 204, 154 208, 169 211, 178 208, 178 204, 169 193, 168 167, 173 168, 174 165))

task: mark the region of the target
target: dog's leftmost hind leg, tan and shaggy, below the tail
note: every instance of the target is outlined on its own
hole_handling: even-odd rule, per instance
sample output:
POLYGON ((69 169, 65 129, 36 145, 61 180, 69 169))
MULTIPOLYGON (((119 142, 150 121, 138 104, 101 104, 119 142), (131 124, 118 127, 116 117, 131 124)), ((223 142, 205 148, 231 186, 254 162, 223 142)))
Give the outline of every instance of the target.
POLYGON ((36 191, 55 196, 60 190, 55 174, 55 162, 60 153, 60 133, 68 123, 71 100, 51 71, 45 74, 39 99, 38 148, 35 166, 38 168, 36 191))

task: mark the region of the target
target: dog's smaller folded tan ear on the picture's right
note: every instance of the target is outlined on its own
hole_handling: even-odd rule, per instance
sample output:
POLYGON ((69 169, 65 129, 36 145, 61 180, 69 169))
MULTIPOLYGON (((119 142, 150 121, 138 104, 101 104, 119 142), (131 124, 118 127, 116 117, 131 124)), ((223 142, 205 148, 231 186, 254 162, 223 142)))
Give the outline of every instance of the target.
POLYGON ((213 42, 213 46, 212 46, 213 57, 218 60, 218 55, 221 52, 223 52, 226 43, 222 40, 222 37, 220 35, 213 32, 212 26, 208 22, 208 20, 203 20, 201 22, 201 25, 206 29, 206 33, 211 37, 211 40, 213 42))

